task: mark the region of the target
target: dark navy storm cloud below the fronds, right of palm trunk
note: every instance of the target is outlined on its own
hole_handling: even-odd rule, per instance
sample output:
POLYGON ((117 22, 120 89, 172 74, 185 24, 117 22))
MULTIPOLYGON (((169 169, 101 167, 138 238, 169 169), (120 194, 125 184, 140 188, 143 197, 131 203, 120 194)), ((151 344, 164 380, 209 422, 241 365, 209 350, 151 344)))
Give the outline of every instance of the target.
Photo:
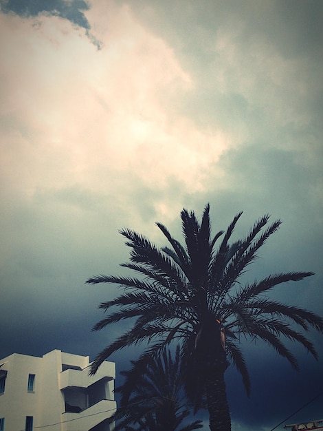
MULTIPOLYGON (((252 381, 251 397, 247 399, 238 373, 229 370, 226 377, 232 419, 243 423, 246 429, 274 428, 322 392, 322 366, 315 359, 303 355, 300 371, 296 371, 269 348, 258 345, 249 350, 246 356, 252 381)), ((318 411, 318 404, 310 403, 285 423, 313 420, 318 411)))

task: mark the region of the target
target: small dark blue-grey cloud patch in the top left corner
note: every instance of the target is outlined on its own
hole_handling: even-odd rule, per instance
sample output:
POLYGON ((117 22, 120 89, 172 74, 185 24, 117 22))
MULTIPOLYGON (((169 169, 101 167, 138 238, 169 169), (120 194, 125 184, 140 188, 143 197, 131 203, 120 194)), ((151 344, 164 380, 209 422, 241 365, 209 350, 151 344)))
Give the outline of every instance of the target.
POLYGON ((89 21, 83 13, 89 10, 86 1, 83 0, 1 0, 1 11, 4 13, 13 12, 19 17, 38 17, 42 14, 54 15, 67 19, 86 30, 90 29, 89 21))

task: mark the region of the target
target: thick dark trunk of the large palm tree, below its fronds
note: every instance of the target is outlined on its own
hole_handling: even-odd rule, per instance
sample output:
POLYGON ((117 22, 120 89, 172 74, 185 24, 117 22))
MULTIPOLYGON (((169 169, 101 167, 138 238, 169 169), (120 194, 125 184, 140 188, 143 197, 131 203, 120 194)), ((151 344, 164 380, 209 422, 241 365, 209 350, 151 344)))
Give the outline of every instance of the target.
POLYGON ((208 371, 205 381, 211 431, 231 431, 231 419, 227 394, 225 391, 224 371, 218 367, 208 371))

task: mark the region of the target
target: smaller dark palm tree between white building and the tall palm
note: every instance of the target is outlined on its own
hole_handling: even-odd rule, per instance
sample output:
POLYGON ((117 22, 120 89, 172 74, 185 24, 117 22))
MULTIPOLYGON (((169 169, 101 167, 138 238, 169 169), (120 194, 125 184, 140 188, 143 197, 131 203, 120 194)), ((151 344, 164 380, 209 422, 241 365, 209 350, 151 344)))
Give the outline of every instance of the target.
MULTIPOLYGON (((160 357, 151 358, 144 374, 136 375, 135 381, 132 370, 121 373, 126 379, 116 390, 122 395, 120 406, 109 420, 119 421, 115 431, 190 431, 203 427, 201 421, 181 426, 190 409, 183 397, 180 361, 177 346, 174 359, 170 350, 164 350, 160 357)), ((132 364, 135 367, 135 361, 132 364)))

